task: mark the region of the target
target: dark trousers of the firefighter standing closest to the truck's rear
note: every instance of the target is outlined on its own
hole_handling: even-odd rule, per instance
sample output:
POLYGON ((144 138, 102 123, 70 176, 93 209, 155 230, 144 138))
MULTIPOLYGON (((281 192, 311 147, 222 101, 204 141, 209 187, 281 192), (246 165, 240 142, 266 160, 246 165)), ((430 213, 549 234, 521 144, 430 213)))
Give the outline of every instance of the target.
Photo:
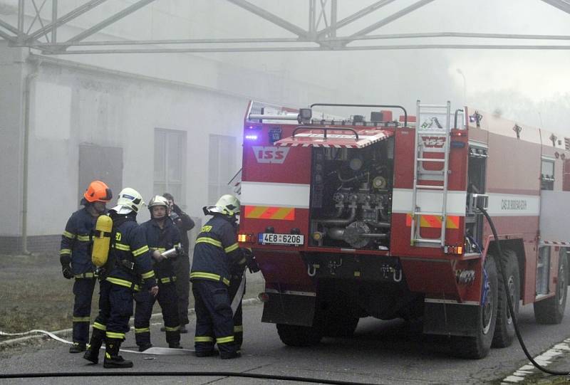
POLYGON ((237 347, 227 286, 210 280, 193 280, 192 295, 196 310, 196 352, 212 352, 217 343, 220 356, 234 354, 237 347))

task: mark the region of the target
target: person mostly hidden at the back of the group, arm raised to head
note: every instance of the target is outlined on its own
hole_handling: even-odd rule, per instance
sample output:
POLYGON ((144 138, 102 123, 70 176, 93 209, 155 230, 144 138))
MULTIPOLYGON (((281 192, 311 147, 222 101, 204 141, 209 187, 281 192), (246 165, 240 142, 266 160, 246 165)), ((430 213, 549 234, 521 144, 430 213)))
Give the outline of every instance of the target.
POLYGON ((190 274, 190 241, 188 240, 188 231, 194 228, 195 223, 187 213, 180 209, 180 206, 175 204, 174 196, 165 193, 162 194, 170 206, 170 219, 175 223, 180 231, 180 243, 182 243, 182 250, 184 253, 172 262, 174 265, 175 275, 180 278, 176 280, 176 294, 178 297, 178 318, 180 320, 180 333, 187 333, 186 325, 188 322, 188 297, 190 295, 190 281, 187 279, 190 274))

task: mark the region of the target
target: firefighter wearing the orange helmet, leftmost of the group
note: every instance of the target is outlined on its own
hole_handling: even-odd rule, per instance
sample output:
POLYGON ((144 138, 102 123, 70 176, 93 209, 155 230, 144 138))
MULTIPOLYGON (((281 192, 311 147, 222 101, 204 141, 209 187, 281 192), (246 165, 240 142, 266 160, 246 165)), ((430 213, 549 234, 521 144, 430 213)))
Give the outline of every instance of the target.
POLYGON ((91 314, 91 298, 95 288, 95 266, 91 263, 93 246, 93 228, 98 216, 105 213, 105 203, 112 194, 102 181, 92 181, 81 204, 83 209, 71 214, 66 230, 61 236, 60 263, 63 277, 73 283, 73 345, 70 353, 83 352, 89 340, 89 320, 91 314))

